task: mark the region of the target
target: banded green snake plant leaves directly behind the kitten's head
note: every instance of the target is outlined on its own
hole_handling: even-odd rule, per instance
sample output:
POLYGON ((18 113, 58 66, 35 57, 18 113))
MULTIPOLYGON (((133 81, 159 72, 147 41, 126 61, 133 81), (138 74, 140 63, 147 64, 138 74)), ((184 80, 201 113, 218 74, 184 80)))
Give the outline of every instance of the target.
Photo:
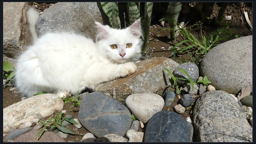
POLYGON ((125 28, 141 18, 142 54, 146 54, 153 2, 97 2, 97 5, 103 23, 112 28, 125 28))

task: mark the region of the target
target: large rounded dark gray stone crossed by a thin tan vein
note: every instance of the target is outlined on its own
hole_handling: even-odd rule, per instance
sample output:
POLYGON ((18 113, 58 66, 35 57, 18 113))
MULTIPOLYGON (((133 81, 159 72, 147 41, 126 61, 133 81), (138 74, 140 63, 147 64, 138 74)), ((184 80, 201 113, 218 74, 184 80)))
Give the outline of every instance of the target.
POLYGON ((128 108, 102 92, 92 92, 82 99, 78 119, 98 138, 106 134, 124 136, 132 124, 128 108))

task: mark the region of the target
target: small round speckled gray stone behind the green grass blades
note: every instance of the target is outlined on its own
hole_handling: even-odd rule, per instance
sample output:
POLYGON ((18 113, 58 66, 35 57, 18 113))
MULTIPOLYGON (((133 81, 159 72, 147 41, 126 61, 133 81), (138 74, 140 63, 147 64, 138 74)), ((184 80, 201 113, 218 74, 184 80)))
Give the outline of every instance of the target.
MULTIPOLYGON (((183 68, 184 70, 186 70, 186 72, 188 73, 188 76, 190 78, 192 78, 194 80, 194 82, 196 82, 196 80, 199 77, 199 69, 198 66, 194 63, 191 62, 184 62, 183 64, 180 64, 179 66, 177 66, 174 71, 173 71, 173 75, 177 78, 186 78, 188 79, 189 77, 184 74, 183 72, 181 72, 180 70, 178 70, 179 68, 183 68)), ((183 80, 178 80, 177 79, 177 83, 181 86, 185 85, 186 82, 183 80)))

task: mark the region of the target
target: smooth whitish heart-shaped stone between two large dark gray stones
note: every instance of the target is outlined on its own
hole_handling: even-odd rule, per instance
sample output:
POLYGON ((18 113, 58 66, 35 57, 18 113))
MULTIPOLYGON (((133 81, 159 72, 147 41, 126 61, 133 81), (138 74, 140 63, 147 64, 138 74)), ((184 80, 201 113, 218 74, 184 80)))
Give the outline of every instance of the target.
POLYGON ((164 108, 164 99, 158 94, 131 94, 126 98, 126 106, 136 119, 144 124, 164 108))

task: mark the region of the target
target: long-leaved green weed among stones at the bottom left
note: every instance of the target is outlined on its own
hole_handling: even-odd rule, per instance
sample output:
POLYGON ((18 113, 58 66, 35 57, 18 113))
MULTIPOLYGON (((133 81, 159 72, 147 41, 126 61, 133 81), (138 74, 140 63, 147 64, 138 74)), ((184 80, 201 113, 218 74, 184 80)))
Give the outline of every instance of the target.
POLYGON ((44 124, 44 126, 36 134, 36 139, 39 139, 41 137, 41 135, 43 134, 45 129, 49 129, 49 131, 52 130, 53 132, 55 132, 58 129, 63 133, 80 135, 80 134, 75 134, 74 132, 68 130, 68 128, 65 128, 64 126, 62 126, 62 122, 64 120, 66 120, 67 122, 70 122, 71 124, 78 124, 72 118, 63 117, 62 116, 63 114, 64 113, 60 112, 60 113, 55 114, 55 116, 52 116, 48 120, 39 120, 39 122, 44 124))

